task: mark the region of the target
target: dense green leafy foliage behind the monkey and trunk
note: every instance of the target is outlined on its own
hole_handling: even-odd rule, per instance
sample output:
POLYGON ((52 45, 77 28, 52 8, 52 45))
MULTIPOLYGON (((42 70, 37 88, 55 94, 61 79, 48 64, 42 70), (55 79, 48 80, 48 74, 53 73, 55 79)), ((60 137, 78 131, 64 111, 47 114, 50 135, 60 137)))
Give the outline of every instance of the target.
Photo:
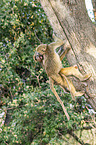
MULTIPOLYGON (((0 144, 67 144, 66 134, 84 144, 88 140, 73 131, 94 128, 91 106, 83 96, 73 102, 56 86, 71 118, 68 122, 45 71, 33 59, 37 45, 52 41, 53 30, 40 3, 1 0, 0 7, 0 144)), ((66 58, 63 64, 68 66, 66 58)))

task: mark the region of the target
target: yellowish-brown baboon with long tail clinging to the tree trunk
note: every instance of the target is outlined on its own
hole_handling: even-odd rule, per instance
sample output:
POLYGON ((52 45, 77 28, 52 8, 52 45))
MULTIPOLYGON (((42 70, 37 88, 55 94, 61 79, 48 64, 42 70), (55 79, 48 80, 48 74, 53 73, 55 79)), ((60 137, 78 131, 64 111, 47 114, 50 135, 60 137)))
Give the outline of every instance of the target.
POLYGON ((63 45, 64 42, 56 36, 54 36, 54 38, 55 42, 39 45, 36 48, 34 58, 35 60, 43 64, 43 67, 49 77, 50 88, 61 104, 63 111, 65 112, 66 117, 69 120, 69 115, 63 105, 63 102, 54 89, 54 83, 60 85, 62 88, 66 88, 67 90, 69 90, 74 98, 75 96, 82 96, 84 92, 77 92, 73 83, 67 78, 67 76, 74 75, 80 80, 86 80, 90 77, 90 74, 83 76, 74 66, 69 68, 62 68, 61 59, 65 56, 69 48, 66 48, 65 53, 63 53, 60 57, 58 53, 56 53, 55 49, 63 45))

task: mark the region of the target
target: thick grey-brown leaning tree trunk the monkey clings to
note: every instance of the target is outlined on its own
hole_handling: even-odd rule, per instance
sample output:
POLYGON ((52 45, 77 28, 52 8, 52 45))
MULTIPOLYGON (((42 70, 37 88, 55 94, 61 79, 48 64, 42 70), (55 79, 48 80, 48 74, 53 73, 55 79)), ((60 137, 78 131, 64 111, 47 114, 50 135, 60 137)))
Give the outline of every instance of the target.
POLYGON ((84 0, 40 0, 56 35, 70 44, 70 65, 82 74, 91 73, 85 97, 96 110, 96 28, 88 17, 84 0))

